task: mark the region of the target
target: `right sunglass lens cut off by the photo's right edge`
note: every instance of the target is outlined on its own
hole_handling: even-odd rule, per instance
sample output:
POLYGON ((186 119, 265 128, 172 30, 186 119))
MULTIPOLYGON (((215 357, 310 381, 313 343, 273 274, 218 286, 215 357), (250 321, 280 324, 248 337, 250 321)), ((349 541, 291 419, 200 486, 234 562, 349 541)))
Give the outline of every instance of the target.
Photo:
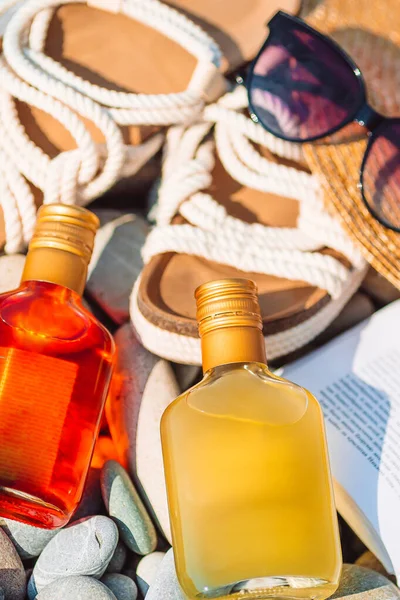
POLYGON ((370 212, 386 227, 400 231, 400 121, 389 121, 372 138, 362 186, 370 212))

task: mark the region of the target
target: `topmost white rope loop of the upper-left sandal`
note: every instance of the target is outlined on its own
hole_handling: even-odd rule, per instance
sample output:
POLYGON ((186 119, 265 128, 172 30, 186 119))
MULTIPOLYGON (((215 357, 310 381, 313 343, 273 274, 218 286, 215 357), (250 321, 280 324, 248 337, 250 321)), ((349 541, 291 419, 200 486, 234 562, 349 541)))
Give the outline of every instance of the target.
POLYGON ((91 6, 121 12, 160 31, 198 60, 187 90, 177 94, 134 94, 91 84, 44 54, 54 9, 69 3, 71 0, 27 0, 11 18, 4 35, 4 54, 13 70, 34 87, 69 106, 73 107, 74 93, 79 93, 109 107, 110 115, 121 125, 178 123, 199 114, 207 92, 217 80, 220 83, 223 80, 218 70, 221 60, 218 45, 178 11, 158 0, 91 0, 88 2, 91 6))

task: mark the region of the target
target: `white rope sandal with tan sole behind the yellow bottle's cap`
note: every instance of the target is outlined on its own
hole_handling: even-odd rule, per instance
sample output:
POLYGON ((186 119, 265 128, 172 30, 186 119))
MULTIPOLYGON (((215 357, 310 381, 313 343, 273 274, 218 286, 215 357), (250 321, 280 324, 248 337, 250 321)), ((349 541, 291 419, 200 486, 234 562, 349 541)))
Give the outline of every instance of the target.
POLYGON ((366 272, 325 212, 317 179, 299 165, 301 147, 268 134, 246 106, 239 86, 201 122, 167 135, 157 224, 130 313, 144 346, 178 363, 201 363, 193 293, 204 281, 255 280, 271 360, 326 329, 366 272))

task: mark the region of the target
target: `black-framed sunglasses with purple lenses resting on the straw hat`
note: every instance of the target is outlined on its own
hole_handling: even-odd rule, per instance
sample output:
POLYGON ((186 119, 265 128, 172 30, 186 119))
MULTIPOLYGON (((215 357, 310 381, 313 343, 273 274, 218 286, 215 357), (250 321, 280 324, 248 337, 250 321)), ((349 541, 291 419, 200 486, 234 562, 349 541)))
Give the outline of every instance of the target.
POLYGON ((251 117, 290 142, 312 142, 356 122, 368 132, 359 188, 369 212, 400 232, 400 117, 367 103, 360 69, 340 46, 282 11, 247 80, 251 117))

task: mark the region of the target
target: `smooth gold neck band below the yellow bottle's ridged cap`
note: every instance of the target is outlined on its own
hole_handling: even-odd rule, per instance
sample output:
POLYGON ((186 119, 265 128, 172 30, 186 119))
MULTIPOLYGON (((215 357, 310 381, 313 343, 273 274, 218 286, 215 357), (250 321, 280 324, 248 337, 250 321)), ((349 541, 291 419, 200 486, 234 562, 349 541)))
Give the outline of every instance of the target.
POLYGON ((267 363, 265 341, 257 327, 223 327, 205 333, 201 338, 204 373, 229 363, 267 363))

